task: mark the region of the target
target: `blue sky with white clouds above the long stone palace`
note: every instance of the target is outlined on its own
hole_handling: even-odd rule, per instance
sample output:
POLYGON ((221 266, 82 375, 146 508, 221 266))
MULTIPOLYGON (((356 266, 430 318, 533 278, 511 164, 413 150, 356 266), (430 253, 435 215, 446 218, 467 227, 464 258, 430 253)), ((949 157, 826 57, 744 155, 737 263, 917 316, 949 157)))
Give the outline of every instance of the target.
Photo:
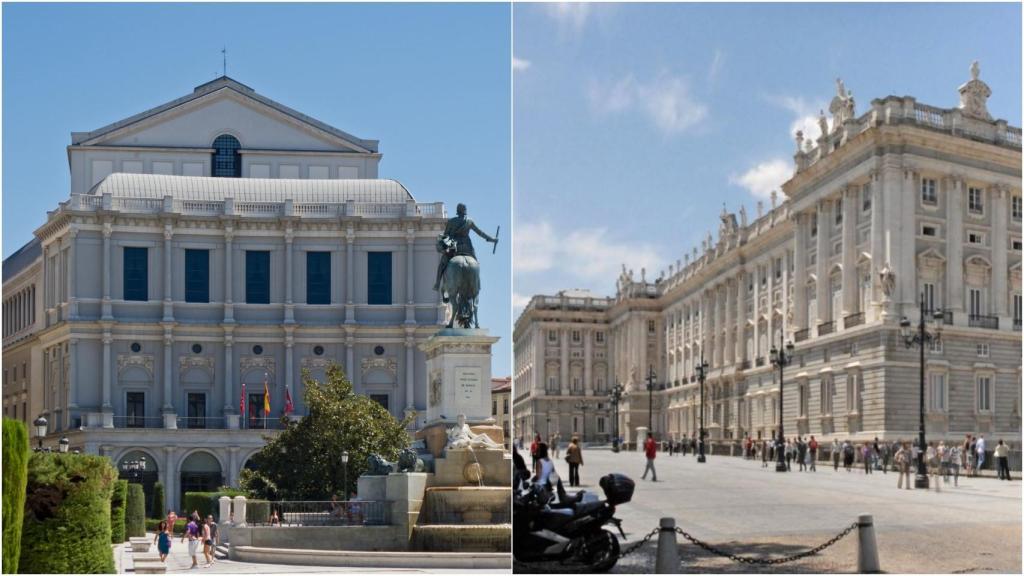
POLYGON ((818 134, 841 77, 857 114, 952 108, 980 60, 989 112, 1021 125, 1020 4, 517 4, 515 314, 537 293, 610 295, 756 214, 818 134))

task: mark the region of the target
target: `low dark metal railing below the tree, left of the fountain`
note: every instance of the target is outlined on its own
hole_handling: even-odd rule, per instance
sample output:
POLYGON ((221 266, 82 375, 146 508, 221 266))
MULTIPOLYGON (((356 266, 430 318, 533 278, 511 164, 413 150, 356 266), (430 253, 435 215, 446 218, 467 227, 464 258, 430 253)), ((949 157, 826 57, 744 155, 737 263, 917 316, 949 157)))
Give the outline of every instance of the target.
MULTIPOLYGON (((255 526, 386 526, 387 502, 378 500, 326 500, 270 502, 270 516, 253 519, 255 526), (276 512, 276 521, 271 520, 276 512)), ((505 522, 508 522, 506 520, 505 522)))

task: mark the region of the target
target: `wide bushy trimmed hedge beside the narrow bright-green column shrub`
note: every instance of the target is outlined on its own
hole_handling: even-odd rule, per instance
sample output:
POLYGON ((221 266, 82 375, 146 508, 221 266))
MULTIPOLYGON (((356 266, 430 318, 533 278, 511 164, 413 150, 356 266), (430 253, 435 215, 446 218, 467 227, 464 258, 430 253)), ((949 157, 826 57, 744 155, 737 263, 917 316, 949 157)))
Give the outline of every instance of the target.
POLYGON ((111 496, 116 479, 117 470, 104 456, 34 453, 18 572, 114 573, 111 496))

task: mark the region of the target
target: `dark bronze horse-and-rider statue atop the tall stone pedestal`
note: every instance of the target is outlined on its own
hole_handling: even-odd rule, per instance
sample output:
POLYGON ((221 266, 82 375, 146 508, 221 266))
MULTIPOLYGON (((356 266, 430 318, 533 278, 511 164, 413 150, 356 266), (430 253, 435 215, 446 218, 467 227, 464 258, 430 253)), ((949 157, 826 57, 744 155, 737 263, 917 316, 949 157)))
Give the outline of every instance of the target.
POLYGON ((434 290, 440 290, 441 299, 449 304, 449 328, 454 327, 456 322, 460 328, 480 327, 476 319, 477 296, 480 294, 480 263, 473 251, 469 233, 475 232, 480 238, 493 243, 494 253, 498 249, 501 230, 499 227, 492 238, 476 228, 466 215, 466 205, 460 203, 456 208, 456 216, 449 218, 444 233, 437 237, 437 251, 441 257, 437 264, 434 290))

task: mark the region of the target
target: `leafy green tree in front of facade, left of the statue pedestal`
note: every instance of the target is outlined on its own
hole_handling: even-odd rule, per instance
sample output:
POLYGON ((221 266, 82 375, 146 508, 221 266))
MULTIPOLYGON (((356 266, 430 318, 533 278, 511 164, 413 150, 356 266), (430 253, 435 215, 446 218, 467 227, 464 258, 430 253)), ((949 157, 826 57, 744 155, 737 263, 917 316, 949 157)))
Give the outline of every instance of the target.
POLYGON ((305 403, 309 415, 290 421, 243 470, 242 488, 268 500, 328 500, 352 492, 367 469, 371 454, 389 460, 409 446, 406 426, 415 415, 397 420, 383 406, 352 392, 341 368, 332 365, 321 383, 303 371, 305 403), (342 486, 341 453, 348 452, 348 485, 342 486))

